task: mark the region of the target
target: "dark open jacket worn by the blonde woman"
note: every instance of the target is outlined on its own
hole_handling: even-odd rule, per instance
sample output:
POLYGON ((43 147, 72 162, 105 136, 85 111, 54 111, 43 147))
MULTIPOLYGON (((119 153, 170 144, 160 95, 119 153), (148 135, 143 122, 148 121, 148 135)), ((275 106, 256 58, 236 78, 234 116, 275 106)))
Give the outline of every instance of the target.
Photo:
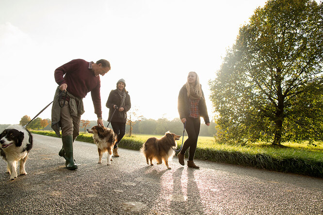
MULTIPOLYGON (((200 116, 203 117, 205 123, 210 123, 208 109, 205 103, 204 93, 202 91, 203 99, 198 102, 198 108, 200 110, 200 116)), ((190 104, 187 96, 187 90, 185 85, 180 89, 178 94, 178 113, 179 118, 188 118, 190 116, 190 104)))

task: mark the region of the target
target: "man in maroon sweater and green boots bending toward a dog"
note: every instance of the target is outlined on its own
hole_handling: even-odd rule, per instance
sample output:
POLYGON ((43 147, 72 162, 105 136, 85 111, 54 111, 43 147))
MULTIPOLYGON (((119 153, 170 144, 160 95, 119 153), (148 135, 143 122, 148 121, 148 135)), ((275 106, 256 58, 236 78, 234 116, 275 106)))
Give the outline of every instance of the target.
POLYGON ((54 72, 56 83, 55 98, 63 92, 60 101, 53 102, 51 127, 60 136, 62 128, 63 147, 59 155, 64 157, 67 169, 77 169, 73 158, 73 142, 79 135, 81 115, 84 113, 82 99, 91 92, 97 124, 104 126, 101 111, 100 77, 111 69, 107 60, 101 59, 94 63, 82 59, 72 60, 58 67, 54 72))

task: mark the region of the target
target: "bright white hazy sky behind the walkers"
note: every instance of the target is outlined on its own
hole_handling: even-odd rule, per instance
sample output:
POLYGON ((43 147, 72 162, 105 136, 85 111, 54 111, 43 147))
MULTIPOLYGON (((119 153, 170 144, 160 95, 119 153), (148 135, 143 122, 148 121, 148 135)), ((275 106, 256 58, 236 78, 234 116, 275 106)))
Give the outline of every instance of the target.
MULTIPOLYGON (((103 119, 111 90, 126 80, 132 107, 149 119, 178 117, 188 72, 208 81, 239 28, 266 0, 1 0, 0 124, 33 118, 53 100, 54 70, 73 59, 110 61, 101 77, 103 119)), ((97 120, 91 93, 81 119, 97 120)), ((51 118, 51 106, 39 115, 51 118)))

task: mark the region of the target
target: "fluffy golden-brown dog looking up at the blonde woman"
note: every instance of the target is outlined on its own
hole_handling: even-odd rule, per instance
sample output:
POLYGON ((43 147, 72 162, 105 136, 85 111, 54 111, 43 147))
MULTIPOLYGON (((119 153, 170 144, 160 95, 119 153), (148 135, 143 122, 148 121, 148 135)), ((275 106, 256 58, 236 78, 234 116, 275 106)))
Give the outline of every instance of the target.
POLYGON ((177 148, 176 140, 180 136, 167 131, 165 136, 158 138, 148 138, 141 148, 141 152, 145 155, 147 164, 153 166, 152 160, 155 159, 157 164, 162 164, 164 160, 167 169, 172 169, 168 166, 168 160, 173 158, 175 149, 177 148))

